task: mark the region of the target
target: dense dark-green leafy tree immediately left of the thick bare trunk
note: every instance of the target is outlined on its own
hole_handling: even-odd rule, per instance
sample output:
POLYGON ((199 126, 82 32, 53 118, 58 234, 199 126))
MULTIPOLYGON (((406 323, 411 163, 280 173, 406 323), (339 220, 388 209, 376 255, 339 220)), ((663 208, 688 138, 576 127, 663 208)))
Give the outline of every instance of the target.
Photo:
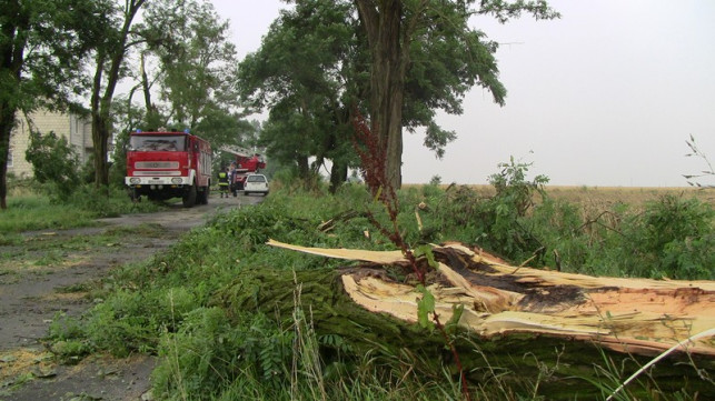
POLYGON ((271 158, 297 167, 308 181, 331 160, 332 190, 356 162, 349 138, 359 74, 350 10, 348 1, 296 1, 238 69, 241 99, 255 110, 270 109, 261 143, 271 158))

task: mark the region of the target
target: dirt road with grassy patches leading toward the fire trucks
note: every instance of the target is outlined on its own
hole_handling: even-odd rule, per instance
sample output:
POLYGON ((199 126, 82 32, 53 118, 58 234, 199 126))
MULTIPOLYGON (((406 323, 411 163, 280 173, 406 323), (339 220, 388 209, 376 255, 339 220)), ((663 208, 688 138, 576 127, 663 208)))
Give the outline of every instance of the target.
POLYGON ((21 245, 0 247, 0 401, 151 400, 155 360, 93 355, 59 364, 43 338, 58 313, 80 315, 112 269, 145 261, 217 213, 260 202, 250 196, 191 209, 101 219, 100 227, 23 233, 21 245))

